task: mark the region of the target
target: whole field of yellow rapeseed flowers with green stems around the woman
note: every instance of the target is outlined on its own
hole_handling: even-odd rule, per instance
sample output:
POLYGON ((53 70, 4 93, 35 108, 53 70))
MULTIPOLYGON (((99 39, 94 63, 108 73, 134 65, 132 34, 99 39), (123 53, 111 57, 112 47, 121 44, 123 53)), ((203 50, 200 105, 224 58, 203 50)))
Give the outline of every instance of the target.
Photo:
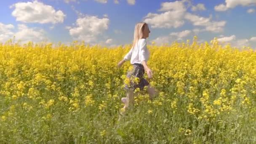
POLYGON ((148 45, 160 93, 120 116, 130 48, 0 44, 0 143, 256 143, 255 50, 148 45))

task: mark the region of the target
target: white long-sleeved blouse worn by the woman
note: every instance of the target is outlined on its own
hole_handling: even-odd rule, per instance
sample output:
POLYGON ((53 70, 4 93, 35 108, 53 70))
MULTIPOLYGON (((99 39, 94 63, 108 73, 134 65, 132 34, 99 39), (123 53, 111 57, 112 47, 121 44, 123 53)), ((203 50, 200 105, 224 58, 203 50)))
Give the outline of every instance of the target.
POLYGON ((131 60, 131 64, 141 64, 141 61, 149 60, 149 50, 147 49, 147 41, 139 39, 136 45, 125 55, 125 61, 131 60))

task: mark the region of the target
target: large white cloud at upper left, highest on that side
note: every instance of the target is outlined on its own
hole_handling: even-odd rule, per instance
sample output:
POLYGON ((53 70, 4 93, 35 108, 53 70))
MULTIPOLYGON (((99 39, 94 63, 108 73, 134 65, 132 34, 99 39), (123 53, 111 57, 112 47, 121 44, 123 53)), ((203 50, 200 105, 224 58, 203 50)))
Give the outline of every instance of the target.
POLYGON ((27 23, 62 23, 65 14, 62 11, 56 11, 51 5, 45 5, 37 0, 27 3, 16 3, 10 8, 15 8, 12 16, 16 21, 27 23))

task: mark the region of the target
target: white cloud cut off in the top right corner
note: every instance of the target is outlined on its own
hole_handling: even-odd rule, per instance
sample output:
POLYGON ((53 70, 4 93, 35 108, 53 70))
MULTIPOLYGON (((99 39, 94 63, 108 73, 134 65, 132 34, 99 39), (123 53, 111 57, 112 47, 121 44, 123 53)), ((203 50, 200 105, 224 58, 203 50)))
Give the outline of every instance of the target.
POLYGON ((235 8, 238 5, 251 6, 256 5, 256 0, 225 0, 226 5, 220 4, 215 6, 216 11, 227 11, 229 8, 235 8))

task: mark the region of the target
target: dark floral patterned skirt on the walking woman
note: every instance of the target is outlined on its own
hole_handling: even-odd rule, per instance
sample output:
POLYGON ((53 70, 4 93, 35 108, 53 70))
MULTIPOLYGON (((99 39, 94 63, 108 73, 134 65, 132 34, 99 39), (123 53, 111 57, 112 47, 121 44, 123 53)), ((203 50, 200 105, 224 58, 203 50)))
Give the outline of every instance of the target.
POLYGON ((144 67, 142 64, 133 64, 132 69, 129 69, 127 72, 127 79, 125 80, 125 90, 135 90, 139 88, 140 91, 147 85, 149 82, 143 77, 144 75, 144 67))

